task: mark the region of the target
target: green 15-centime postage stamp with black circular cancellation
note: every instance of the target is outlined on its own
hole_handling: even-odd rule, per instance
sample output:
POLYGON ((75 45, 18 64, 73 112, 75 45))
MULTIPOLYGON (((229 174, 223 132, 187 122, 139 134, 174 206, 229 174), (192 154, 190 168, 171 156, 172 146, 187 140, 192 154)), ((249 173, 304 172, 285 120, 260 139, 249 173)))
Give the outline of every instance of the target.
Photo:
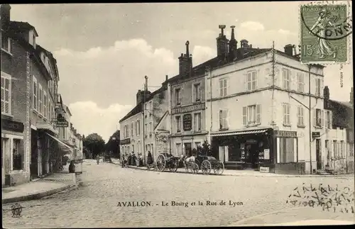
POLYGON ((349 62, 351 8, 333 2, 300 6, 300 59, 304 64, 349 62))

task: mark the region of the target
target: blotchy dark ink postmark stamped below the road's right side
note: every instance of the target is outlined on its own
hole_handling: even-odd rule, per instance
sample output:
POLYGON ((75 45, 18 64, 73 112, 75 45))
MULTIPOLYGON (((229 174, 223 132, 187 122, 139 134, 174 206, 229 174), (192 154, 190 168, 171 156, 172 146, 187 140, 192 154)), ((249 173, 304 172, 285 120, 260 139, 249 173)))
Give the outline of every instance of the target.
POLYGON ((318 186, 310 186, 302 184, 302 187, 293 189, 286 203, 293 206, 309 206, 322 207, 323 211, 337 210, 342 213, 354 213, 354 190, 349 187, 339 188, 338 186, 330 186, 319 184, 318 186))

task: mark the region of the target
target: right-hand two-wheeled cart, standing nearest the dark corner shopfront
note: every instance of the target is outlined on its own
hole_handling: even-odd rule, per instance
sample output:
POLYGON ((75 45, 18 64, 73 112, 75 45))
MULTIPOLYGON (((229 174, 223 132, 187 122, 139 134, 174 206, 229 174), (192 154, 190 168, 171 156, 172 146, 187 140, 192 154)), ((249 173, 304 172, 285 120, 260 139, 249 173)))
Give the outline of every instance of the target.
POLYGON ((220 175, 224 172, 224 163, 212 156, 197 155, 195 163, 201 169, 202 174, 209 175, 212 169, 216 175, 220 175))

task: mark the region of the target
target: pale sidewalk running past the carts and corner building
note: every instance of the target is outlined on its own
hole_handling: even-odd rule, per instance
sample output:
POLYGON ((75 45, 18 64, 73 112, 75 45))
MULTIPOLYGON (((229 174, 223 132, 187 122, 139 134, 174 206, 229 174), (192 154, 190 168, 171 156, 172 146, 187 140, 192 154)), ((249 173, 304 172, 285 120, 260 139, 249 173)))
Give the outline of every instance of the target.
MULTIPOLYGON (((119 164, 119 160, 113 159, 112 163, 119 164)), ((119 164, 121 165, 121 164, 119 164)), ((147 169, 147 167, 136 167, 136 166, 128 166, 131 169, 141 169, 146 171, 155 171, 153 169, 147 169)), ((157 171, 155 171, 157 172, 157 171)), ((164 172, 170 172, 169 169, 165 169, 164 172)), ((184 168, 179 168, 176 173, 187 173, 184 168)), ((199 174, 202 174, 201 170, 199 174)), ((214 175, 213 169, 211 169, 210 175, 214 175)), ((258 172, 253 170, 236 170, 236 169, 224 169, 224 176, 240 176, 240 177, 354 177, 354 174, 342 174, 342 175, 317 175, 317 174, 305 174, 305 175, 293 175, 293 174, 274 174, 274 173, 265 173, 258 172)))

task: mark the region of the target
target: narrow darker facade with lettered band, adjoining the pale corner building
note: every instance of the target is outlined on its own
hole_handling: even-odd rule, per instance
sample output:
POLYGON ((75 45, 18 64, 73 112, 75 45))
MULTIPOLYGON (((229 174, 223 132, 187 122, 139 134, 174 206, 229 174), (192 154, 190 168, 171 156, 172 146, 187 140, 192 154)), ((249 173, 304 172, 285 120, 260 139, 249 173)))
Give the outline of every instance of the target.
POLYGON ((204 65, 192 67, 189 52, 179 57, 179 74, 168 80, 169 145, 172 155, 190 155, 207 138, 204 65), (202 71, 201 71, 202 69, 202 71))

